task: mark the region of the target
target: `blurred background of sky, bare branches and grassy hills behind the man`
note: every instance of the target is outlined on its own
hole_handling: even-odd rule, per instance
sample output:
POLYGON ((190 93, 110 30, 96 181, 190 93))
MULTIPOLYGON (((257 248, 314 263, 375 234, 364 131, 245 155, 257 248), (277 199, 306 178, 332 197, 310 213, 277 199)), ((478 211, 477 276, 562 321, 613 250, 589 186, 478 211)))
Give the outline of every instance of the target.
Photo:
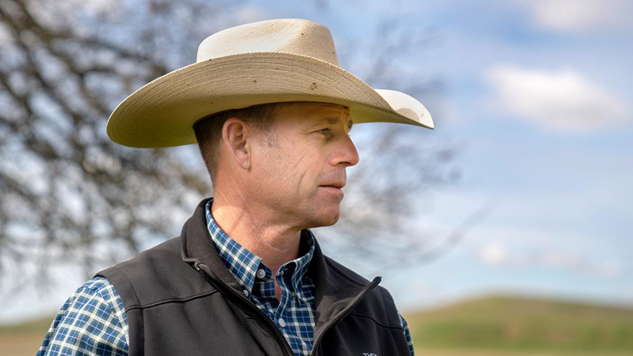
POLYGON ((329 27, 341 67, 435 130, 354 127, 323 250, 382 276, 418 355, 633 355, 633 3, 3 0, 0 353, 37 350, 95 272, 212 193, 196 146, 105 133, 128 94, 234 25, 329 27))

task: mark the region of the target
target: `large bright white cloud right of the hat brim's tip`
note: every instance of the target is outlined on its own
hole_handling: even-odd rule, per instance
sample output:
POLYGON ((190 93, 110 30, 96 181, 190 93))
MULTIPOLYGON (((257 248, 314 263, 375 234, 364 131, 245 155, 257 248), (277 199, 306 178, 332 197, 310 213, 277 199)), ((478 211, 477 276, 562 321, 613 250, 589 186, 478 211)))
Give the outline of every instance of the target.
POLYGON ((485 73, 494 90, 491 108, 546 129, 588 131, 625 120, 627 108, 612 93, 577 72, 547 72, 494 65, 485 73))

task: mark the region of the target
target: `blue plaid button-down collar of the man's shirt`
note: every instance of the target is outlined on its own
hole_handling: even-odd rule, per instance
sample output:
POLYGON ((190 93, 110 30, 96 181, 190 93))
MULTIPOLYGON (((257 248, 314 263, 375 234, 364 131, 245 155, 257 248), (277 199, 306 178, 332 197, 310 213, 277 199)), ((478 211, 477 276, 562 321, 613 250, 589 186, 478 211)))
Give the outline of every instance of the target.
MULTIPOLYGON (((206 203, 205 210, 206 226, 211 240, 213 240, 213 245, 215 245, 215 249, 218 251, 220 258, 222 258, 222 262, 227 265, 235 279, 237 279, 242 287, 246 288, 249 293, 252 293, 257 270, 261 268, 270 271, 270 269, 261 263, 260 257, 240 245, 218 226, 213 219, 213 215, 211 215, 212 203, 213 198, 206 203)), ((300 290, 303 277, 306 275, 306 272, 308 272, 308 267, 310 267, 310 262, 315 251, 315 239, 312 232, 308 229, 301 231, 299 253, 301 253, 301 251, 306 251, 306 253, 299 258, 286 262, 279 269, 282 273, 286 271, 292 272, 291 283, 295 291, 300 290)))

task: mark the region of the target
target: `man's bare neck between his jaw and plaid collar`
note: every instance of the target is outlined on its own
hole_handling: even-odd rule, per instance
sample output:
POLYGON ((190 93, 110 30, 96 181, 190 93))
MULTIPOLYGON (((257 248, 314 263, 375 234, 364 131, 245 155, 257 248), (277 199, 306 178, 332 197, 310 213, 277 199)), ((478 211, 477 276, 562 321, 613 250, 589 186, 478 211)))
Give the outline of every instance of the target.
POLYGON ((223 194, 213 198, 211 215, 222 231, 260 257, 273 274, 299 257, 301 229, 273 221, 247 202, 237 200, 227 201, 223 194))

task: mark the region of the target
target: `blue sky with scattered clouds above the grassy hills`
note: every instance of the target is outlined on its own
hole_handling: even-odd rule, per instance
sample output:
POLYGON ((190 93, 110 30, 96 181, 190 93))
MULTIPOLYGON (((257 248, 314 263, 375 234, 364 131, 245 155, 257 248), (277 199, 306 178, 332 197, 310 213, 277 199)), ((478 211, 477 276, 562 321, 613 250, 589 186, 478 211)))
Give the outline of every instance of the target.
MULTIPOLYGON (((341 39, 370 42, 385 18, 432 29, 399 70, 441 80, 418 99, 436 122, 427 136, 460 143, 461 179, 420 201, 432 210, 420 209, 419 228, 448 236, 491 210, 436 262, 380 271, 402 310, 491 293, 633 305, 633 4, 481 3, 250 1, 239 16, 323 23, 343 67, 341 39)), ((77 283, 60 281, 37 308, 0 310, 0 322, 54 312, 77 283)))

